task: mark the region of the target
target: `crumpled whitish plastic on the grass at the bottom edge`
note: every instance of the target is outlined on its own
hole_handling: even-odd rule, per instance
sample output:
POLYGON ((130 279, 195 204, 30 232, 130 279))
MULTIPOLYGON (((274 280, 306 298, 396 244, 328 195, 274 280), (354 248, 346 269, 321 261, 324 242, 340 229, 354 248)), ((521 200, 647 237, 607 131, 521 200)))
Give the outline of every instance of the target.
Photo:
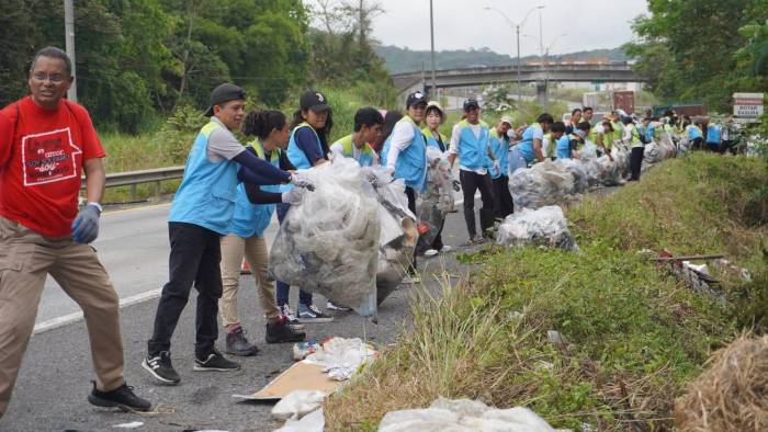
POLYGON ((497 409, 468 399, 437 399, 429 408, 388 412, 379 432, 554 432, 528 408, 497 409))

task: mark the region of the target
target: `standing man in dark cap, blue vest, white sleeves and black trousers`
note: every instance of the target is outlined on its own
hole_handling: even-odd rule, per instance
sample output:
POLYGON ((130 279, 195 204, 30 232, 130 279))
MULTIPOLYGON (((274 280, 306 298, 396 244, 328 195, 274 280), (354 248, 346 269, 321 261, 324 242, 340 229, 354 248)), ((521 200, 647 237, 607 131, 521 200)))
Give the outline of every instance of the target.
POLYGON ((464 221, 470 242, 481 243, 490 237, 494 227, 494 194, 488 168, 500 170, 501 166, 490 150, 490 129, 479 120, 479 104, 474 99, 464 101, 466 118, 453 126, 448 160, 451 167, 460 159, 459 181, 464 195, 464 221), (475 224, 475 192, 479 189, 481 235, 475 224))

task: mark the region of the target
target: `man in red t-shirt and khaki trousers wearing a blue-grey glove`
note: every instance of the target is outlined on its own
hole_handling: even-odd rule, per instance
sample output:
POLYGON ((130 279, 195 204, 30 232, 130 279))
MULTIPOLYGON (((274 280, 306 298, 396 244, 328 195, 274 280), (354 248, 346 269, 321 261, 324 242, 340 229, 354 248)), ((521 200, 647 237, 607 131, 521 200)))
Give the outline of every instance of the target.
POLYGON ((99 235, 104 150, 88 111, 64 99, 72 80, 67 54, 43 48, 30 69, 32 94, 0 111, 0 418, 47 274, 86 317, 97 374, 88 401, 150 408, 123 378, 117 294, 88 246, 99 235), (87 204, 78 212, 83 170, 87 204))

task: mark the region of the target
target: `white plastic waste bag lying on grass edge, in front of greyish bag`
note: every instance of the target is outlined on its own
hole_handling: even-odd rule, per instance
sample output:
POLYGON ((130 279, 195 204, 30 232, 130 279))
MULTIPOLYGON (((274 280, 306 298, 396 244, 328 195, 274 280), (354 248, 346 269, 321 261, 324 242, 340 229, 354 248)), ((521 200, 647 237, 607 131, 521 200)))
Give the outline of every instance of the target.
POLYGON ((507 216, 499 226, 496 242, 510 248, 544 246, 578 251, 563 209, 556 205, 523 208, 507 216))

